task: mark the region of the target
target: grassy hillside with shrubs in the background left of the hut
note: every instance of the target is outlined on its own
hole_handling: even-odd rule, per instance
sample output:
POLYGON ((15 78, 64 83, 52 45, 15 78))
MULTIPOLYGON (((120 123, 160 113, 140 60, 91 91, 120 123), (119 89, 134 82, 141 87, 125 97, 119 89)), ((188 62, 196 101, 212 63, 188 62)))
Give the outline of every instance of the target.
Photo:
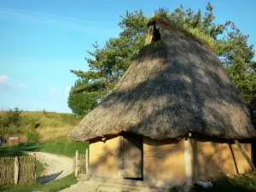
POLYGON ((81 117, 71 113, 20 111, 15 108, 0 112, 0 135, 19 135, 21 140, 27 137, 30 141, 65 138, 80 120, 81 117))

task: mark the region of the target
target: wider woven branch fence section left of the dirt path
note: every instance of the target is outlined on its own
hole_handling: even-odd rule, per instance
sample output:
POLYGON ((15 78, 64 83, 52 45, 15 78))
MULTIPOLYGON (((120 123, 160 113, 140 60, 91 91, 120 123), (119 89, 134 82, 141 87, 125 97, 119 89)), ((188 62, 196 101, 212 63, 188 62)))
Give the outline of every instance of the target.
POLYGON ((36 180, 36 156, 0 158, 0 185, 36 180))

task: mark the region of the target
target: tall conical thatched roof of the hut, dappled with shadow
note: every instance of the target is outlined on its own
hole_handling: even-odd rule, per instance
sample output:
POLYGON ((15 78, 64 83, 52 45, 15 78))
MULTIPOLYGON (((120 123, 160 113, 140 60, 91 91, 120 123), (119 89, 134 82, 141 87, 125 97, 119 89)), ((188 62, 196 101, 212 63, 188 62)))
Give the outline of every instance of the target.
POLYGON ((189 132, 256 137, 247 103, 218 55, 164 22, 154 27, 161 41, 140 51, 112 93, 69 137, 84 141, 122 131, 154 139, 189 132))

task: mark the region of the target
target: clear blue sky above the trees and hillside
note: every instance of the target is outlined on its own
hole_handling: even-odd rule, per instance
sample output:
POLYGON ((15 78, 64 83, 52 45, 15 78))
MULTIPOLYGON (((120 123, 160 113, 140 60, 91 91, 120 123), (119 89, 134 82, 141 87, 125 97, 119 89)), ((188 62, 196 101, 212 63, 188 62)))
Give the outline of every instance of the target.
MULTIPOLYGON (((208 1, 0 0, 0 108, 71 113, 68 90, 77 79, 70 69, 88 70, 86 49, 117 37, 119 15, 159 7, 204 10, 208 1)), ((216 22, 232 20, 256 43, 256 1, 211 1, 216 22)))

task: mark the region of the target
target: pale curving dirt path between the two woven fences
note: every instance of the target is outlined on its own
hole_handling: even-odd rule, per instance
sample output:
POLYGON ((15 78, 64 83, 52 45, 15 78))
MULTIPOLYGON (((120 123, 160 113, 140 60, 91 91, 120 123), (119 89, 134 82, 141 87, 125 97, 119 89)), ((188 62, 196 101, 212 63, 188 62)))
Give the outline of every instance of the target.
POLYGON ((43 164, 44 171, 41 176, 44 176, 45 181, 66 177, 73 172, 72 158, 44 152, 25 152, 31 155, 36 154, 36 159, 43 164))

